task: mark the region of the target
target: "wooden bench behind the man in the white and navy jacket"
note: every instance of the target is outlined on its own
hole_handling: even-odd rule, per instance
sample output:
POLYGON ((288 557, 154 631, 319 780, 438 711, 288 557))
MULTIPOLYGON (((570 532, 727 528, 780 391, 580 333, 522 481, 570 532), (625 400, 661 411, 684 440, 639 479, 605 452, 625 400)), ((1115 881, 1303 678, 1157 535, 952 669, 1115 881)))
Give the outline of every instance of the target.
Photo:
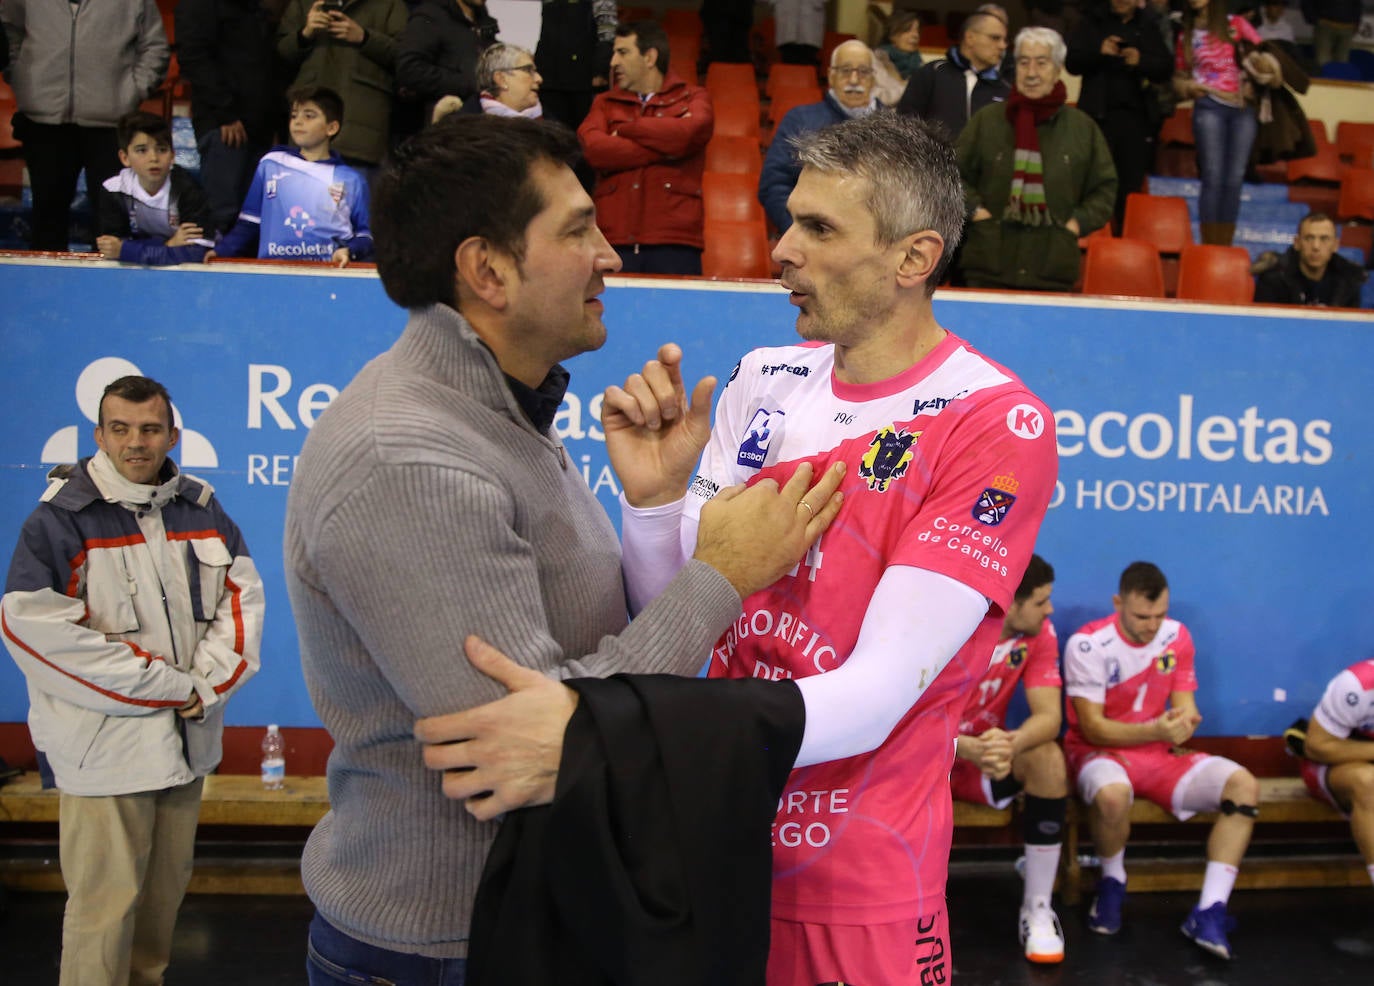
MULTIPOLYGON (((56 823, 58 792, 44 791, 37 773, 25 773, 0 787, 0 823, 56 823)), ((257 775, 221 773, 205 779, 201 825, 309 828, 330 809, 324 777, 287 777, 268 791, 257 775)), ((55 860, 0 861, 0 883, 23 890, 60 891, 55 860)), ((304 894, 294 860, 198 860, 190 893, 304 894)))

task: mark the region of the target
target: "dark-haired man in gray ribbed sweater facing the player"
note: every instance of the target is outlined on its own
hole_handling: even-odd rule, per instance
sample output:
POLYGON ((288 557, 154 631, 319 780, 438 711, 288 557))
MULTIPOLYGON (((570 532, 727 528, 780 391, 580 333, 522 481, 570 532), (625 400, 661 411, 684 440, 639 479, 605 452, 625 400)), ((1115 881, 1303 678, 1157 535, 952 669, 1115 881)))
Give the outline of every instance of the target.
MULTIPOLYGON (((311 431, 286 519, 301 662, 334 739, 302 860, 311 982, 462 982, 497 827, 444 796, 412 728, 502 693, 469 634, 556 678, 691 674, 838 511, 838 474, 808 490, 809 467, 717 497, 694 560, 627 625, 616 531, 551 427, 559 363, 605 342, 598 295, 620 268, 576 152, 550 124, 453 114, 375 185, 378 271, 409 321, 311 431)), ((709 416, 699 397, 687 413, 709 416)))

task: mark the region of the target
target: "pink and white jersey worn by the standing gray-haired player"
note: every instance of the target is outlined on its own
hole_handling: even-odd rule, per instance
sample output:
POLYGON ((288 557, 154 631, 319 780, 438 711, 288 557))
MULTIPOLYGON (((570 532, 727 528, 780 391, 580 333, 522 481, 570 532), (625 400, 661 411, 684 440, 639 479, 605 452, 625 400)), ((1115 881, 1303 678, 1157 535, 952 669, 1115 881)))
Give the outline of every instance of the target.
MULTIPOLYGON (((731 375, 684 512, 719 489, 848 464, 838 518, 801 564, 745 600, 712 677, 807 677, 842 665, 889 566, 955 578, 987 618, 874 753, 794 770, 774 824, 774 916, 829 924, 941 906, 949 768, 1057 474, 1054 419, 1011 372, 948 335, 879 383, 834 378, 829 345, 761 349, 731 375)), ((900 641, 893 645, 900 647, 900 641)), ((912 674, 918 674, 912 669, 912 674)))

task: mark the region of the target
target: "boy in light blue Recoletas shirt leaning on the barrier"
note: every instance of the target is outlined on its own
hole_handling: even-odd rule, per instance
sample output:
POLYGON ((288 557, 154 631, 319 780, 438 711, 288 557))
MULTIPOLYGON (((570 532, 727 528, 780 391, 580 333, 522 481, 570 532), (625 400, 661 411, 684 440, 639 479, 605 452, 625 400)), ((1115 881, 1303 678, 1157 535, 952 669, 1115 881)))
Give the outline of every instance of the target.
POLYGON ((294 147, 273 147, 258 162, 239 221, 212 257, 316 260, 348 266, 372 255, 367 180, 330 150, 344 124, 344 100, 324 87, 287 93, 294 147))

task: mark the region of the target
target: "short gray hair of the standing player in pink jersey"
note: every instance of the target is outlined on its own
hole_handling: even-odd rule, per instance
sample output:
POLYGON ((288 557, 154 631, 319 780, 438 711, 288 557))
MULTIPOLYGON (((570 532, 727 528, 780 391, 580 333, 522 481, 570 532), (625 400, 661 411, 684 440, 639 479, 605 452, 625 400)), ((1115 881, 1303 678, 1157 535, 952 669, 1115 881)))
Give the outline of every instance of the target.
POLYGON ((877 246, 889 247, 922 229, 940 235, 944 253, 926 280, 926 294, 933 294, 963 235, 963 185, 944 129, 879 110, 804 133, 793 144, 802 168, 868 183, 877 246))

